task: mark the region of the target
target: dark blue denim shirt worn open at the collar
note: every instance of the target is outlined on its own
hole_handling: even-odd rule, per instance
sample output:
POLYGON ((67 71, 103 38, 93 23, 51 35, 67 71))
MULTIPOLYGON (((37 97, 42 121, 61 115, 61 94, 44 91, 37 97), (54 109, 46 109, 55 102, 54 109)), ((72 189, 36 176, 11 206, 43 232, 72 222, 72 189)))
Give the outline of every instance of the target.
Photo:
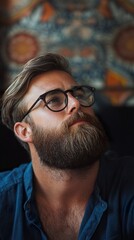
MULTIPOLYGON (((78 240, 134 240, 133 172, 132 158, 101 160, 78 240)), ((0 174, 0 240, 29 239, 47 240, 34 204, 31 163, 0 174)))

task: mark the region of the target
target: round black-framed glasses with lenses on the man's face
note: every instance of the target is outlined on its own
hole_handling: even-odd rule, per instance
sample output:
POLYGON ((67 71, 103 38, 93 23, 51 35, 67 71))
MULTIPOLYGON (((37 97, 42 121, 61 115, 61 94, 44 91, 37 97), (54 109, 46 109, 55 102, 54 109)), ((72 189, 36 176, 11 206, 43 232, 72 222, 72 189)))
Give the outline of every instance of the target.
POLYGON ((79 101, 81 106, 91 107, 95 102, 94 92, 95 88, 90 86, 74 86, 73 88, 66 91, 63 91, 61 89, 54 89, 43 93, 32 104, 21 121, 23 121, 23 119, 31 112, 31 110, 40 100, 42 100, 45 103, 45 106, 53 112, 60 112, 64 110, 68 105, 67 93, 71 93, 71 95, 79 101))

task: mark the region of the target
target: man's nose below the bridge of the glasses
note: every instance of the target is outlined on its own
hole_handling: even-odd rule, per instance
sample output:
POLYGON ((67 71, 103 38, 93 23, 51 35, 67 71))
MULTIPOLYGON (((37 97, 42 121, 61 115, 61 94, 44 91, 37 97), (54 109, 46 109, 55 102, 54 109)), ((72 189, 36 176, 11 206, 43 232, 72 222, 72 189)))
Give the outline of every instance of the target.
POLYGON ((67 95, 68 95, 68 106, 67 106, 68 113, 77 112, 80 109, 79 101, 71 93, 68 93, 67 95))

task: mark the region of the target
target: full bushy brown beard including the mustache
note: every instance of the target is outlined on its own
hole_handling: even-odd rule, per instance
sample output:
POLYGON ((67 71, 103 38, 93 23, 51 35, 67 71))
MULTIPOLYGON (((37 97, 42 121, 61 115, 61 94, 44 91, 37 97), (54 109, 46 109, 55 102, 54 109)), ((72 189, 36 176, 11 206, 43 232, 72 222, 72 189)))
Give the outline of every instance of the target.
POLYGON ((106 151, 108 138, 95 116, 74 114, 60 129, 44 130, 31 120, 33 143, 40 162, 52 169, 82 169, 99 160, 106 151), (71 126, 76 121, 84 124, 71 126))

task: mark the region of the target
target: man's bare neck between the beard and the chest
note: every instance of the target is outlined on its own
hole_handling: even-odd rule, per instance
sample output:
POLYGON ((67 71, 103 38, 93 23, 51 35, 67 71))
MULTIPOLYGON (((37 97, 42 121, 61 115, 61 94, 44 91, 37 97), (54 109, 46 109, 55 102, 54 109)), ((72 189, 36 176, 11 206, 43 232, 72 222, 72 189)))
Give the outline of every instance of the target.
POLYGON ((99 161, 82 170, 52 170, 33 163, 35 198, 52 208, 87 203, 94 190, 98 169, 99 161))

